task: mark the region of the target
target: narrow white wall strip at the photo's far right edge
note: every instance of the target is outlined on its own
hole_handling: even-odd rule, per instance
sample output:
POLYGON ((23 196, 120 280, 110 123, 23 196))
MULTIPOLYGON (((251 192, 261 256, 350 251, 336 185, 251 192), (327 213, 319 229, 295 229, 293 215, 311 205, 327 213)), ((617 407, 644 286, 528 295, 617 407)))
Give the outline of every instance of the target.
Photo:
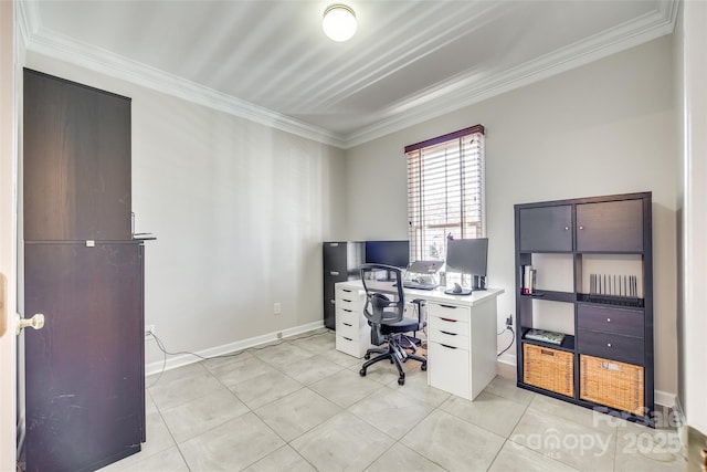
POLYGON ((680 273, 679 398, 687 424, 707 434, 707 3, 685 1, 682 7, 675 32, 682 98, 679 149, 683 153, 678 199, 684 262, 680 273))

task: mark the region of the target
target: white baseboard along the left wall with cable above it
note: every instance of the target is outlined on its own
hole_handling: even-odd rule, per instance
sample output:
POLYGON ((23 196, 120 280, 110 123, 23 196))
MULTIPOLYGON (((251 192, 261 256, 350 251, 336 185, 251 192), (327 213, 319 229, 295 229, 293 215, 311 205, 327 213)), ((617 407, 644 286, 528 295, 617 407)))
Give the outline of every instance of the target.
MULTIPOLYGON (((292 328, 287 328, 287 329, 282 329, 282 331, 277 331, 277 332, 272 332, 272 333, 267 333, 264 334, 262 336, 256 336, 256 337, 251 337, 247 339, 242 339, 242 340, 236 340, 234 343, 229 343, 229 344, 224 344, 222 346, 214 346, 214 347, 210 347, 208 349, 203 349, 203 350, 199 350, 196 352, 194 354, 198 354, 201 357, 214 357, 214 356, 221 356, 224 354, 229 354, 229 353, 233 353, 236 350, 242 350, 242 349, 247 349, 249 347, 254 347, 254 346, 260 346, 266 343, 272 343, 274 340, 278 340, 278 339, 286 339, 288 337, 293 337, 293 336, 297 336, 299 334, 303 333, 308 333, 315 329, 319 329, 324 327, 324 321, 320 322, 315 322, 315 323, 308 323, 306 325, 300 325, 300 326, 295 326, 292 328), (281 336, 278 336, 281 335, 281 336)), ((161 339, 167 347, 169 348, 169 339, 161 339)), ((181 354, 178 356, 168 356, 167 360, 157 360, 154 363, 149 363, 145 365, 145 375, 149 376, 152 374, 159 374, 160 371, 162 371, 162 368, 165 370, 171 370, 171 369, 176 369, 178 367, 182 367, 182 366, 187 366, 189 364, 194 364, 194 363, 199 363, 202 359, 197 357, 197 356, 192 356, 189 354, 181 354)))

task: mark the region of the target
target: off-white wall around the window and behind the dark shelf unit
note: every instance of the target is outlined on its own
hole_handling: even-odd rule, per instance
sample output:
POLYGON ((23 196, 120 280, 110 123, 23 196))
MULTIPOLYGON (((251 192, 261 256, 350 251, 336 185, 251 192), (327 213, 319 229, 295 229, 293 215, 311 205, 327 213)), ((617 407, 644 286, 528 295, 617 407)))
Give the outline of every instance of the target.
POLYGON ((349 149, 349 238, 405 238, 403 147, 485 125, 488 280, 506 290, 498 301, 502 326, 515 314, 515 203, 653 191, 655 384, 675 394, 672 69, 667 36, 349 149))

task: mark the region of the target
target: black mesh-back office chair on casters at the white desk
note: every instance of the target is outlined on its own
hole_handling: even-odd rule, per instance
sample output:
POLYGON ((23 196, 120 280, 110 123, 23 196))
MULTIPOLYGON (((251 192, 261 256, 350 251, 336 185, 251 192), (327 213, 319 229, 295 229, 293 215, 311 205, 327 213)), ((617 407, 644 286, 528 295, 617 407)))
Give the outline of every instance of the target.
POLYGON ((405 384, 405 371, 402 363, 413 359, 422 363, 420 368, 428 370, 428 359, 414 354, 414 344, 405 339, 404 333, 422 329, 425 326, 424 311, 418 306, 418 318, 404 316, 405 296, 402 286, 402 271, 398 268, 383 264, 361 265, 361 281, 366 289, 366 305, 363 315, 371 326, 371 343, 381 346, 388 343, 384 348, 371 348, 366 352, 367 359, 359 374, 366 376, 366 369, 371 365, 384 359, 390 359, 398 367, 398 384, 405 384), (412 349, 412 354, 401 345, 412 349), (379 354, 371 359, 371 354, 379 354), (369 360, 370 359, 370 360, 369 360))

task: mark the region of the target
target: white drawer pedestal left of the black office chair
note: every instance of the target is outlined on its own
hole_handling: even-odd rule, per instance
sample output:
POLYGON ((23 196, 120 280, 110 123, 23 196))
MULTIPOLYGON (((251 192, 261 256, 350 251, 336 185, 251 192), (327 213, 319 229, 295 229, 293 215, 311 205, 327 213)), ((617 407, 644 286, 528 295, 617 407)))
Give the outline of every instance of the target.
POLYGON ((371 347, 371 327, 363 316, 365 300, 362 290, 336 287, 336 348, 359 358, 371 347))

